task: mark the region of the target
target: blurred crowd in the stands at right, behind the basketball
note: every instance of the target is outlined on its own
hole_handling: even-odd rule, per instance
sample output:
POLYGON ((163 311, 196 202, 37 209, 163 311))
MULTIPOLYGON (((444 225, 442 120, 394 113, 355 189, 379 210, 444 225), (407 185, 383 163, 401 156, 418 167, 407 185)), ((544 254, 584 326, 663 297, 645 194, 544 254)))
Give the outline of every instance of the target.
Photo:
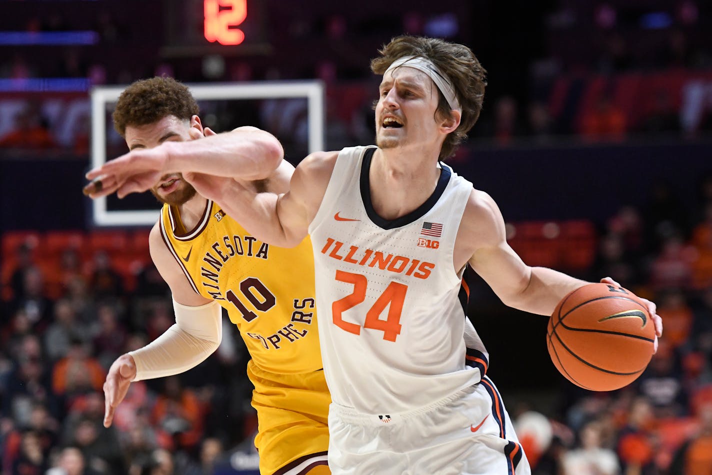
POLYGON ((633 384, 599 393, 565 382, 547 421, 520 421, 535 474, 712 473, 712 176, 697 198, 684 205, 659 183, 644 205, 600 223, 582 276, 613 277, 656 302, 664 334, 633 384))

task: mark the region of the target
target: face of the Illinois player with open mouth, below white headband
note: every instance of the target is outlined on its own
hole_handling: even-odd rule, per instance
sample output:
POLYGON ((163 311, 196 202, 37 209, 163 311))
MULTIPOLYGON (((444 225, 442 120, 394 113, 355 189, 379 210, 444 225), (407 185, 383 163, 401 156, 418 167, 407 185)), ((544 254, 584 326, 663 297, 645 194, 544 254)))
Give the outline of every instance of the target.
POLYGON ((422 71, 407 66, 384 74, 376 105, 376 144, 379 148, 436 143, 439 124, 435 111, 439 93, 422 71))

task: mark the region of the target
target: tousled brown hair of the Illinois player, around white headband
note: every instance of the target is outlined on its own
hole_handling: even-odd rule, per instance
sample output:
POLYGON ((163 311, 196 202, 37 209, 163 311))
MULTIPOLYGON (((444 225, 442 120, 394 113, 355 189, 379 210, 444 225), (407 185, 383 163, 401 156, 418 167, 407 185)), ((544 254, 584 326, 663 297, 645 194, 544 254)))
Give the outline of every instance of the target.
MULTIPOLYGON (((393 61, 403 56, 420 56, 432 61, 452 81, 457 99, 462 107, 460 125, 448 134, 440 150, 441 160, 451 156, 459 143, 475 125, 482 110, 482 101, 487 86, 485 68, 467 46, 449 43, 437 38, 422 36, 398 36, 379 51, 380 56, 371 60, 371 71, 383 74, 393 61)), ((451 108, 441 91, 435 118, 446 118, 451 108)))

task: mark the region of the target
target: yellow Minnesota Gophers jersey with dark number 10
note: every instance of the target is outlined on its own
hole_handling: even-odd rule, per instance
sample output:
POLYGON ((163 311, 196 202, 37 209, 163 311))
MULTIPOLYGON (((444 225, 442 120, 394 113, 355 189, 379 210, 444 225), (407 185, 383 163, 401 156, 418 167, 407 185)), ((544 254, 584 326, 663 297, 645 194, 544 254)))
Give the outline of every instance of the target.
POLYGON ((211 200, 192 231, 169 205, 159 225, 193 290, 227 309, 254 364, 278 374, 322 368, 308 237, 291 249, 268 245, 211 200))

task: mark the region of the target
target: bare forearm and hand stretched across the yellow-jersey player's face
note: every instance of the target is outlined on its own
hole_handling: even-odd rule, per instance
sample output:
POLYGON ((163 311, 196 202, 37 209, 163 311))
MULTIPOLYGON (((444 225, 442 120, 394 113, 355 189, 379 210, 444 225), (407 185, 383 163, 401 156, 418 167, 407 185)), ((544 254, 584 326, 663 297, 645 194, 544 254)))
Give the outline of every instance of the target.
POLYGON ((90 170, 86 178, 93 181, 85 187, 85 194, 99 198, 117 193, 123 198, 129 193, 149 190, 163 175, 176 172, 263 180, 282 163, 282 145, 271 133, 258 128, 240 127, 219 134, 206 128, 204 138, 196 128, 189 133, 193 140, 134 148, 90 170))

